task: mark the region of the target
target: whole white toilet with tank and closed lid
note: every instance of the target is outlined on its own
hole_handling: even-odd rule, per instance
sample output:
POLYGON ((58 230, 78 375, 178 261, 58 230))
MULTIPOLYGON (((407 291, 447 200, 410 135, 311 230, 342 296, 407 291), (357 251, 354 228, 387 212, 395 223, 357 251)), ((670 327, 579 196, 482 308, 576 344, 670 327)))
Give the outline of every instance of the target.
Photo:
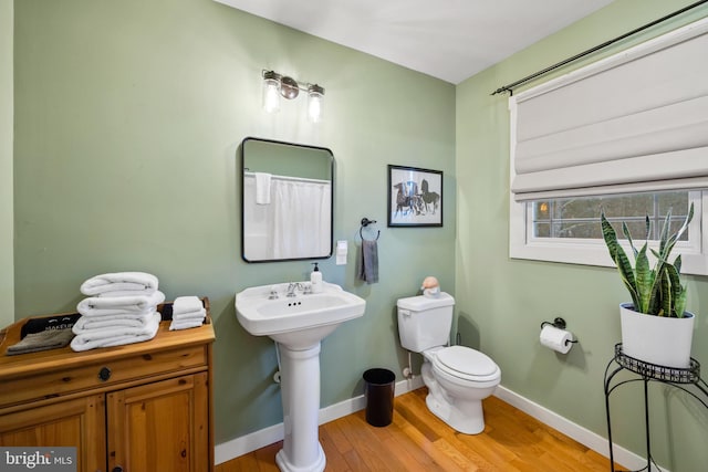
POLYGON ((397 306, 400 344, 424 356, 421 375, 430 411, 459 432, 482 432, 482 400, 493 394, 501 370, 478 350, 448 346, 455 298, 440 292, 400 298, 397 306))

